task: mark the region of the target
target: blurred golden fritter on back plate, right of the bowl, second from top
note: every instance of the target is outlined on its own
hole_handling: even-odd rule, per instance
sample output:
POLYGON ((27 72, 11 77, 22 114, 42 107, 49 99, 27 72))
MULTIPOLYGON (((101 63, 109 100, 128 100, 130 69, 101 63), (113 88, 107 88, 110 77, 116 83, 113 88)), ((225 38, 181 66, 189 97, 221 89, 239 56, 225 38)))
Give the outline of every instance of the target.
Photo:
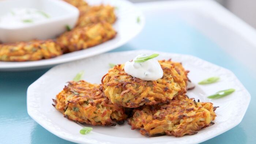
POLYGON ((76 24, 77 27, 90 26, 99 22, 113 24, 116 21, 114 7, 110 5, 79 7, 79 10, 80 16, 76 24))

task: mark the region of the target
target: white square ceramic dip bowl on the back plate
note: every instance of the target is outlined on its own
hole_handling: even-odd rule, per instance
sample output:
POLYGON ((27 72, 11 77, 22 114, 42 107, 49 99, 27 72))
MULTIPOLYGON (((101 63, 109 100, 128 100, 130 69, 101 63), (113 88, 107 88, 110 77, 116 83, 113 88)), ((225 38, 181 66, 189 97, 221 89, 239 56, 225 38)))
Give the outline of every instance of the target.
POLYGON ((42 22, 15 28, 0 27, 1 42, 29 41, 55 38, 75 26, 79 11, 62 0, 3 0, 0 1, 0 17, 12 8, 35 8, 46 12, 50 18, 42 22))

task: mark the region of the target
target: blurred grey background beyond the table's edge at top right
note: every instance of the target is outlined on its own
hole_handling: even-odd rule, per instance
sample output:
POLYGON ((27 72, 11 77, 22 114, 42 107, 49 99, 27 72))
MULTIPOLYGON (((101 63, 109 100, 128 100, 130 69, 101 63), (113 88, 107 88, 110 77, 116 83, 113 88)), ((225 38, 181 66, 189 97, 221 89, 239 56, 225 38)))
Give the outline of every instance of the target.
MULTIPOLYGON (((158 0, 130 0, 134 3, 158 0)), ((215 0, 233 14, 256 28, 256 0, 215 0)))

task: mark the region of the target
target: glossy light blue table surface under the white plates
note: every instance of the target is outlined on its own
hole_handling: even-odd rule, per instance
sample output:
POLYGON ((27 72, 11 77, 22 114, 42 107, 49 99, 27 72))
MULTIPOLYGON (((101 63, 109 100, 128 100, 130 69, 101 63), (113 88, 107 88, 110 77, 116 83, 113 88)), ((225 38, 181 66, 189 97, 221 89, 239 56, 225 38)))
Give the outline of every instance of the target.
MULTIPOLYGON (((191 54, 233 71, 251 93, 252 99, 242 122, 233 129, 214 137, 205 144, 255 143, 256 88, 248 68, 235 60, 211 39, 175 16, 166 19, 152 15, 136 38, 112 52, 148 49, 191 54)), ((69 144, 71 142, 42 128, 27 114, 27 87, 48 69, 24 72, 0 72, 0 143, 69 144)), ((242 96, 242 95, 241 95, 242 96)))

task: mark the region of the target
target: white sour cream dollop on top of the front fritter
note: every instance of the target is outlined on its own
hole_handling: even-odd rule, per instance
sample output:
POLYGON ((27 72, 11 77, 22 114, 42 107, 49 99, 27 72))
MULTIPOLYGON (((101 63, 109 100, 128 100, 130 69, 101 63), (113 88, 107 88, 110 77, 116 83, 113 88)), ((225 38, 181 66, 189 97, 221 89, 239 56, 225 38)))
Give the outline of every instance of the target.
POLYGON ((142 80, 158 80, 163 77, 163 70, 159 62, 152 58, 144 62, 134 62, 138 57, 146 57, 146 54, 139 54, 133 58, 132 62, 127 61, 124 65, 124 71, 131 75, 142 80))

